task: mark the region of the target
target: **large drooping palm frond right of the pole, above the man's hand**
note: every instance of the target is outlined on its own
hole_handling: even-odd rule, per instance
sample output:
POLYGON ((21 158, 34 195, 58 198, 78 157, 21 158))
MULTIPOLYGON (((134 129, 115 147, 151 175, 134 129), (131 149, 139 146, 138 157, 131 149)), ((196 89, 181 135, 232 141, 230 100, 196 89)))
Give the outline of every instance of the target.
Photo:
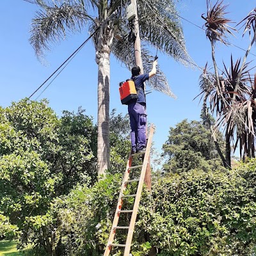
POLYGON ((189 54, 174 1, 139 0, 141 40, 188 66, 189 54))

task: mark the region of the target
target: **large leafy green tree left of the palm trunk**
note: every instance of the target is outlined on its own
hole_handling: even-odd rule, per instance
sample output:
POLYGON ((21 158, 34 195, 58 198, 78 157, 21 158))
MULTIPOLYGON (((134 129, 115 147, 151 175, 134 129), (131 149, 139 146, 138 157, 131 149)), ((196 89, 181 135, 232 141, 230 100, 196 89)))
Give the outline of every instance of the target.
POLYGON ((94 182, 95 125, 81 109, 58 119, 46 100, 28 99, 1 108, 0 120, 0 211, 22 232, 19 246, 34 243, 57 255, 52 200, 79 183, 94 182))

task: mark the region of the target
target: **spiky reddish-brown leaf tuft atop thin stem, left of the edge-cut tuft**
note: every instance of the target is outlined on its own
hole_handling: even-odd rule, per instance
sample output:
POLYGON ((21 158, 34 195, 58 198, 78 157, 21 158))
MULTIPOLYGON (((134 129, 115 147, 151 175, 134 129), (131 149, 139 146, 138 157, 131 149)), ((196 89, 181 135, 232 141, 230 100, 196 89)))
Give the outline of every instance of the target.
POLYGON ((231 22, 230 19, 226 19, 225 9, 227 5, 223 5, 223 0, 217 1, 214 6, 211 6, 210 0, 207 0, 207 16, 204 17, 204 13, 202 14, 202 18, 206 21, 204 26, 206 28, 206 36, 209 38, 211 42, 220 41, 224 44, 228 44, 226 34, 234 35, 231 31, 236 29, 232 28, 228 25, 231 22))

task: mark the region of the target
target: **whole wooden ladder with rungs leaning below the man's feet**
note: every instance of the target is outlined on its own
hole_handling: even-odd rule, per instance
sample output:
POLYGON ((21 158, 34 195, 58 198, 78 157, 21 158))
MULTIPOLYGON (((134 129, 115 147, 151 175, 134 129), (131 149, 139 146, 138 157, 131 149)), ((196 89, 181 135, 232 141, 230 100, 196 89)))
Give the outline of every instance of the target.
POLYGON ((130 249, 131 249, 131 243, 132 243, 132 235, 133 235, 133 232, 134 232, 134 226, 135 226, 135 223, 136 223, 136 217, 137 217, 138 208, 139 208, 139 204, 140 204, 140 197, 141 197, 141 192, 142 192, 142 188, 143 188, 143 182, 144 182, 145 173, 146 173, 146 170, 147 170, 147 165, 149 164, 148 163, 149 162, 149 154, 150 154, 150 148, 151 148, 151 144, 152 144, 154 129, 155 129, 154 125, 151 125, 150 131, 149 131, 149 134, 148 134, 148 141, 147 141, 145 156, 144 156, 144 159, 143 159, 143 164, 137 165, 137 166, 132 166, 132 156, 138 155, 140 153, 130 154, 129 160, 127 161, 127 166, 126 166, 126 170, 125 170, 125 174, 124 174, 124 179, 123 179, 123 182, 122 182, 120 195, 119 195, 118 203, 117 203, 117 207, 116 207, 116 212, 115 212, 112 228, 111 228, 111 231, 110 231, 110 234, 109 234, 108 244, 107 244, 106 250, 104 252, 104 256, 109 256, 109 253, 110 253, 111 248, 113 246, 124 247, 124 256, 129 256, 130 249), (129 174, 130 174, 131 170, 132 169, 138 169, 138 168, 141 168, 140 179, 129 180, 129 174), (134 195, 124 195, 124 191, 127 187, 127 184, 129 184, 131 182, 138 182, 138 188, 137 188, 136 194, 134 194, 134 195), (135 197, 134 205, 133 205, 132 210, 122 210, 123 200, 124 200, 124 198, 127 198, 127 197, 135 197), (131 212, 130 224, 127 227, 120 227, 120 226, 118 226, 118 220, 119 220, 120 214, 122 214, 124 212, 131 212), (113 243, 114 238, 115 238, 115 234, 116 234, 116 229, 118 229, 118 228, 128 229, 127 239, 126 239, 125 244, 115 244, 115 243, 113 243))

